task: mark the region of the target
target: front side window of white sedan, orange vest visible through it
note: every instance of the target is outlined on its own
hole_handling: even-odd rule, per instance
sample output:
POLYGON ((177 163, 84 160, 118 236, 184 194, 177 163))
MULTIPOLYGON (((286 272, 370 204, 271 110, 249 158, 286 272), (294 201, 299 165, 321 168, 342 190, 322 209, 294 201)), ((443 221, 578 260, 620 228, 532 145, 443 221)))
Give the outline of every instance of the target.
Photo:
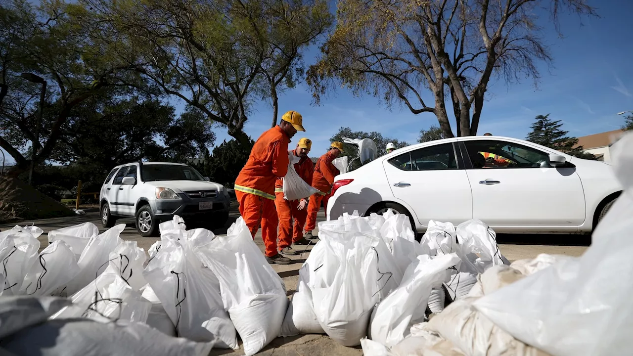
POLYGON ((538 149, 506 141, 464 141, 473 168, 551 167, 549 155, 538 149))

